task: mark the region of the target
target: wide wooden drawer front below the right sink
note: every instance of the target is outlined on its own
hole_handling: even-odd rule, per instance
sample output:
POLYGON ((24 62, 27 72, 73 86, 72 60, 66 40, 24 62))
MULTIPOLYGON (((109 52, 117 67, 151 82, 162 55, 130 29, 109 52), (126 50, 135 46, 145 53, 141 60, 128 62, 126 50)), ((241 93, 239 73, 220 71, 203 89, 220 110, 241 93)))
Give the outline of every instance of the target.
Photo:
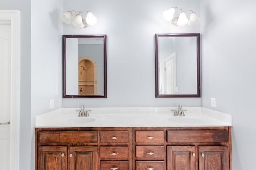
POLYGON ((167 142, 228 142, 228 131, 167 130, 167 142))

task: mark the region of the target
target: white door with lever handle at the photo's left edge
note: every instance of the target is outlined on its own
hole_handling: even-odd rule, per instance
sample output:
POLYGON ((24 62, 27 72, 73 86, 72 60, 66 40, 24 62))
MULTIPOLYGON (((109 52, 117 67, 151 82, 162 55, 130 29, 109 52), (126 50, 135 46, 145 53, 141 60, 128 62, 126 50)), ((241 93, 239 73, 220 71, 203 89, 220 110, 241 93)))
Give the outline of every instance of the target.
POLYGON ((0 170, 10 169, 11 26, 0 25, 0 170))

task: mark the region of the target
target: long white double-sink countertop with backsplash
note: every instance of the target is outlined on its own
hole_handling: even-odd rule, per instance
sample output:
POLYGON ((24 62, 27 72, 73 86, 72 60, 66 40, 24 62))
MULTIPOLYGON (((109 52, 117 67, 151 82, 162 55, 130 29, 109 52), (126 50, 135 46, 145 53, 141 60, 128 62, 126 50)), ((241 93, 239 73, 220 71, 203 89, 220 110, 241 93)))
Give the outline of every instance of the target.
POLYGON ((185 117, 174 117, 174 107, 62 108, 35 117, 35 127, 231 127, 231 115, 202 107, 183 107, 185 117), (92 122, 90 122, 92 121, 92 122), (87 122, 87 123, 84 123, 87 122))

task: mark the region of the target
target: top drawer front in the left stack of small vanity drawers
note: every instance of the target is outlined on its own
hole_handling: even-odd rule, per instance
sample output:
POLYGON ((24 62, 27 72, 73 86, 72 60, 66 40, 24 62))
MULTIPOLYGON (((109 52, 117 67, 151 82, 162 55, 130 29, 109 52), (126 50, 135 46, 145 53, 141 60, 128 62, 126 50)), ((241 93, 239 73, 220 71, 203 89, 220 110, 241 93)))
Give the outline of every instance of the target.
POLYGON ((128 133, 128 131, 101 130, 100 131, 100 142, 103 142, 103 143, 128 143, 129 142, 129 133, 128 133))

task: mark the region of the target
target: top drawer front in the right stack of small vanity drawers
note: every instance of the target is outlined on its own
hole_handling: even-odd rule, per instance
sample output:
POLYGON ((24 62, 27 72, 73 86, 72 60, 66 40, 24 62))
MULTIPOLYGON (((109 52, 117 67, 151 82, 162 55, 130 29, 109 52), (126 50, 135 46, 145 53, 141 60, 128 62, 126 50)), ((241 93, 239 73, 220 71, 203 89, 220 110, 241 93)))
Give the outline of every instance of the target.
POLYGON ((137 143, 164 143, 163 130, 136 130, 137 143))

